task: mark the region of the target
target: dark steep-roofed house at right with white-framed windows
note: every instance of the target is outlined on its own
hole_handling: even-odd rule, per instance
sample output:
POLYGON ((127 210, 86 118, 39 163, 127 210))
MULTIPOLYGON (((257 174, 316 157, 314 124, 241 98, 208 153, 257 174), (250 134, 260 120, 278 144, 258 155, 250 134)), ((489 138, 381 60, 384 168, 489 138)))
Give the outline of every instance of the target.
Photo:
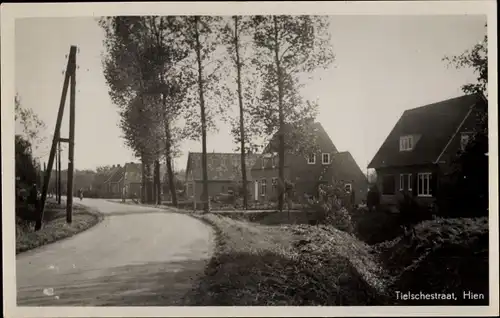
POLYGON ((377 172, 381 203, 410 193, 420 204, 435 202, 440 180, 477 127, 482 95, 464 95, 406 110, 368 165, 377 172))

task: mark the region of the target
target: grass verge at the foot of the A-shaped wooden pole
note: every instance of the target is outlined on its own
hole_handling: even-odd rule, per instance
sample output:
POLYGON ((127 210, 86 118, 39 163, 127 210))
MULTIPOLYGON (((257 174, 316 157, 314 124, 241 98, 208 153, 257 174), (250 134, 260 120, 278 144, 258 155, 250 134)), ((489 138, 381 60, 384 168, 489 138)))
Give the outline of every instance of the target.
POLYGON ((71 237, 96 225, 102 214, 87 207, 75 205, 71 224, 66 223, 64 206, 47 203, 45 224, 40 231, 22 221, 16 224, 16 254, 71 237))

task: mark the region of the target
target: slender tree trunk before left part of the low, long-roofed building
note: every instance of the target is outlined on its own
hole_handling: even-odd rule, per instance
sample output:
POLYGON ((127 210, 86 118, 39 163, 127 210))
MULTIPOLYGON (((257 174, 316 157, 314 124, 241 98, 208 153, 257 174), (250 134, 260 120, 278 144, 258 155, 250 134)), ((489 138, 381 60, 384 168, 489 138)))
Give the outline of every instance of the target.
POLYGON ((195 16, 195 38, 196 38, 196 60, 198 62, 198 90, 200 94, 200 112, 201 112, 201 145, 202 145, 202 171, 203 171, 203 192, 202 201, 203 211, 209 212, 209 202, 208 202, 208 171, 207 171, 207 123, 205 118, 205 99, 203 92, 203 66, 201 65, 201 44, 200 44, 200 33, 198 30, 200 16, 195 16))

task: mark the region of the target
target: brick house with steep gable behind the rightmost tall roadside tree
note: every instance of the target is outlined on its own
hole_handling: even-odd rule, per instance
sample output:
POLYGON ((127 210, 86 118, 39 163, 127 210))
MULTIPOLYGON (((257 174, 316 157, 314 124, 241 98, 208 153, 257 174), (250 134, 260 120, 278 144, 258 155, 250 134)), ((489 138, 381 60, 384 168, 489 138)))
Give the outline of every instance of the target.
MULTIPOLYGON (((316 197, 321 184, 341 182, 348 192, 354 191, 355 203, 366 199, 368 182, 349 152, 339 152, 320 123, 309 122, 305 126, 304 138, 311 138, 316 150, 309 155, 300 155, 288 149, 285 151, 285 180, 294 186, 295 200, 316 197)), ((287 138, 299 138, 293 134, 294 128, 287 125, 287 138)), ((271 138, 262 155, 252 167, 254 198, 261 203, 276 201, 278 198, 279 158, 277 155, 278 135, 271 138), (257 195, 257 196, 255 196, 257 195)))

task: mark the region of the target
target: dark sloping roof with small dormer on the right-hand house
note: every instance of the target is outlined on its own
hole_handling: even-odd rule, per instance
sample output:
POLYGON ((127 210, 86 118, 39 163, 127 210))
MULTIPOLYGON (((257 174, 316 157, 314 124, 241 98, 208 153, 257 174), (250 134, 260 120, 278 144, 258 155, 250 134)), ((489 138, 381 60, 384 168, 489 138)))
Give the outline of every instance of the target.
POLYGON ((472 107, 483 101, 482 96, 472 94, 406 110, 368 168, 435 163, 472 107), (411 151, 399 151, 399 139, 405 135, 414 136, 411 151))

